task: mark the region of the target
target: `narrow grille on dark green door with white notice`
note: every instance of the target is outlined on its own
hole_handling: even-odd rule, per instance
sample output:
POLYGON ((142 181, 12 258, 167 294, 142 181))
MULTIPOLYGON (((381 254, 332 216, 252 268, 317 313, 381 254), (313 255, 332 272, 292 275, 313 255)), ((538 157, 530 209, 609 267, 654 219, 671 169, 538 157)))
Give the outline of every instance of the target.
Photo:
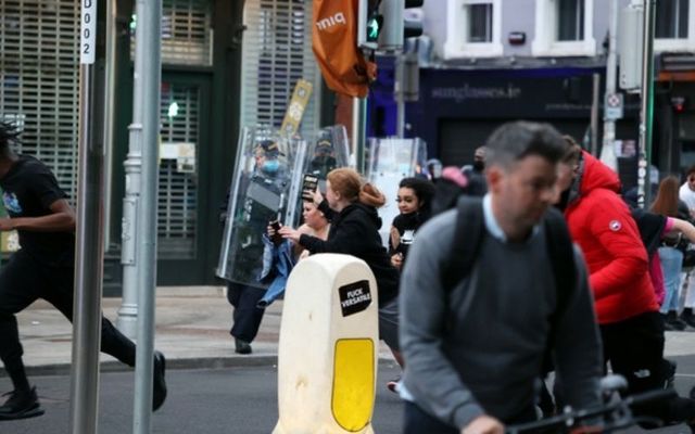
POLYGON ((195 257, 200 89, 195 85, 162 85, 157 250, 161 258, 195 257), (168 151, 165 151, 168 150, 168 151), (192 149, 190 165, 181 152, 192 149))

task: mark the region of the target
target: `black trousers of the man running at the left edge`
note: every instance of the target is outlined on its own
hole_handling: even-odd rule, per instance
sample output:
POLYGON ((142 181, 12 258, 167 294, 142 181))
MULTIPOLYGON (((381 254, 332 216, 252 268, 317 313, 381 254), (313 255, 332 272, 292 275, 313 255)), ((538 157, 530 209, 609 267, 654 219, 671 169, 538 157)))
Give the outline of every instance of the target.
MULTIPOLYGON (((20 332, 15 314, 43 298, 73 321, 74 267, 48 265, 18 251, 0 269, 0 359, 10 376, 24 375, 20 332)), ((135 344, 108 319, 101 319, 101 350, 135 366, 135 344)), ((12 379, 26 382, 24 379, 12 379)))

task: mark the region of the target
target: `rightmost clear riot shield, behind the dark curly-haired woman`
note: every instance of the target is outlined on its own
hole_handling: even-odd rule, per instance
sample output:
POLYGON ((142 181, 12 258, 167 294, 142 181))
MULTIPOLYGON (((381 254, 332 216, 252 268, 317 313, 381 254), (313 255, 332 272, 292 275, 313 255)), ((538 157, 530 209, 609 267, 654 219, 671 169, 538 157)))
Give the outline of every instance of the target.
POLYGON ((399 183, 407 177, 426 177, 422 170, 427 167, 427 144, 419 138, 370 138, 368 151, 367 179, 387 199, 386 205, 379 208, 379 217, 383 222, 379 233, 383 244, 389 245, 391 222, 399 215, 395 202, 399 183))

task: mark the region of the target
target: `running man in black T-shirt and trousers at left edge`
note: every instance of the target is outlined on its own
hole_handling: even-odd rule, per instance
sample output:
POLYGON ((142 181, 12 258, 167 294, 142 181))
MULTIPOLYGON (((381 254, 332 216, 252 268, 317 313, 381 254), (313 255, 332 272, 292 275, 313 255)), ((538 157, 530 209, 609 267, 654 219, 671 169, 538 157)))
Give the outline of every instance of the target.
MULTIPOLYGON (((22 247, 0 268, 0 359, 14 387, 0 406, 0 420, 43 413, 24 370, 15 314, 43 298, 73 319, 75 212, 43 163, 11 150, 18 136, 12 125, 0 122, 0 188, 10 215, 0 218, 0 231, 16 230, 22 247)), ((135 344, 103 317, 101 350, 135 366, 135 344)), ((154 352, 154 410, 166 398, 164 369, 164 356, 154 352)))

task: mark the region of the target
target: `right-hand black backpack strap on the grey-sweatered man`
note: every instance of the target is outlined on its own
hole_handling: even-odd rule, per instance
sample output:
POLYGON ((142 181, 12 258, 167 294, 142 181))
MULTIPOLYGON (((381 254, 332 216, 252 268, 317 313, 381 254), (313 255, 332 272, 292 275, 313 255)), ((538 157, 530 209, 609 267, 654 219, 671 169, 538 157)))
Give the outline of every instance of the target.
MULTIPOLYGON (((574 248, 572 239, 567 229, 565 218, 557 209, 551 208, 543 219, 547 253, 551 257, 553 279, 555 281, 555 293, 557 294, 557 305, 551 315, 551 332, 546 345, 546 357, 553 349, 555 332, 559 319, 569 305, 570 295, 574 292, 577 284, 577 269, 574 268, 574 248)), ((549 360, 546 360, 549 361, 549 360)))

